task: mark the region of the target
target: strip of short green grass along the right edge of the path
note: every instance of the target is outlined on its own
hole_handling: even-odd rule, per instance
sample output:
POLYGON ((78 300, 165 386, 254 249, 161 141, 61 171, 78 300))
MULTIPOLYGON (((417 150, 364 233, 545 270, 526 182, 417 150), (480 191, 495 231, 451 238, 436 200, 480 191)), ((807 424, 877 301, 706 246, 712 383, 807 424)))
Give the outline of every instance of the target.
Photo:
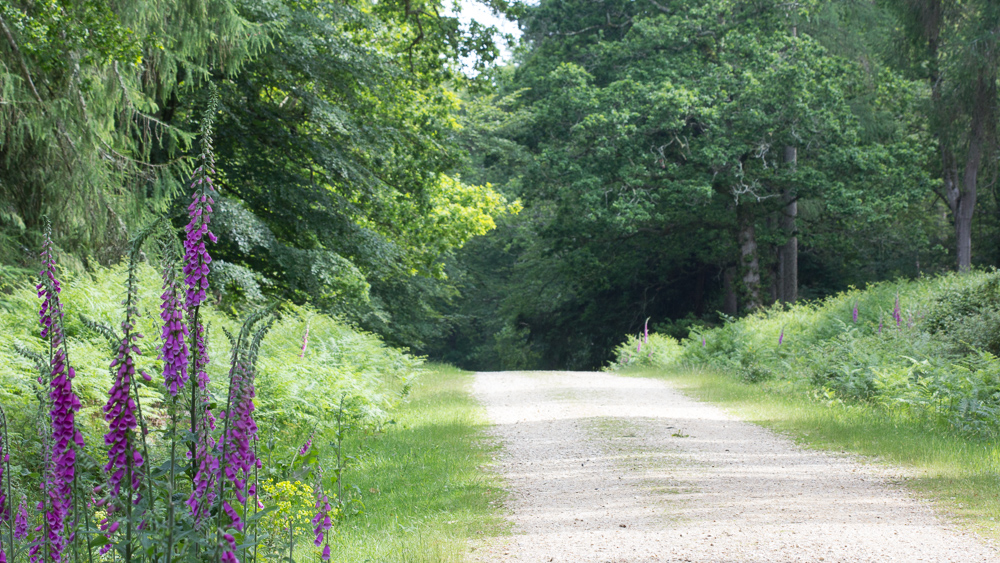
POLYGON ((905 469, 905 485, 931 499, 960 526, 1000 538, 1000 448, 957 437, 868 405, 821 401, 781 382, 743 383, 711 371, 629 370, 624 375, 670 381, 685 394, 714 403, 789 436, 806 447, 859 454, 905 469))

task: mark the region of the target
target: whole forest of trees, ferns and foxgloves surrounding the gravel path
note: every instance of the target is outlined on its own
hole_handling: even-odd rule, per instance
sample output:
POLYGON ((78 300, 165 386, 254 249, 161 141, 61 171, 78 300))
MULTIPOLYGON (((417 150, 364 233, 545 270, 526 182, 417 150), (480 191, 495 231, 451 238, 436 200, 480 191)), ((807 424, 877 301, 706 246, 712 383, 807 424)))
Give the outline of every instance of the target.
POLYGON ((480 4, 0 3, 0 563, 328 558, 428 359, 995 435, 1000 4, 480 4))

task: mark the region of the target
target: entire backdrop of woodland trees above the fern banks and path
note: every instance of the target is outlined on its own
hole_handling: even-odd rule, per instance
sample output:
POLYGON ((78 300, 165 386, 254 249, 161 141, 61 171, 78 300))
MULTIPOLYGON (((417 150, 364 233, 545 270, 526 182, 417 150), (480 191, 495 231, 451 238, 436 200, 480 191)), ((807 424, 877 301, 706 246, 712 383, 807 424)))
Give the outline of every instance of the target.
POLYGON ((213 301, 466 368, 1000 261, 995 2, 489 6, 509 61, 434 1, 3 3, 2 283, 182 226, 210 84, 213 301))

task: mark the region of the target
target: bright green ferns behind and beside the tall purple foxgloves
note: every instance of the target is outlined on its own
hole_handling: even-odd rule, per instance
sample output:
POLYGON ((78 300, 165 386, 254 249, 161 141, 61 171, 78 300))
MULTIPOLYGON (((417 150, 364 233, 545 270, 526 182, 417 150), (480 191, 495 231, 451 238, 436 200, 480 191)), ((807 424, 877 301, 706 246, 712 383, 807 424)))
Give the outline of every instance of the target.
MULTIPOLYGON (((122 297, 121 284, 126 274, 127 269, 119 266, 77 275, 64 284, 61 293, 67 311, 69 358, 77 373, 74 390, 82 403, 77 420, 88 444, 84 459, 100 459, 103 455, 96 444, 106 431, 100 406, 111 387, 107 365, 113 349, 107 339, 108 331, 98 329, 110 327, 119 320, 117 303, 122 297)), ((160 276, 149 265, 137 266, 135 275, 138 283, 136 328, 145 334, 156 334, 159 332, 160 276)), ((41 443, 35 427, 40 417, 47 413, 38 409, 38 388, 33 375, 38 371, 31 360, 43 350, 35 329, 37 306, 37 296, 28 287, 16 288, 0 303, 4 310, 0 323, 8 335, 0 348, 0 357, 5 360, 0 367, 0 404, 11 413, 10 445, 15 471, 9 479, 16 492, 15 498, 26 494, 34 499, 37 489, 31 481, 43 469, 42 457, 37 453, 41 443)), ((239 332, 238 321, 211 305, 203 305, 201 315, 209 327, 209 355, 224 357, 230 344, 227 333, 239 332)), ((262 469, 262 475, 275 481, 288 479, 289 472, 296 469, 277 463, 279 459, 294 459, 299 445, 310 436, 318 444, 319 451, 310 458, 308 467, 315 467, 321 460, 334 455, 327 444, 334 439, 336 424, 333 419, 338 409, 343 408, 353 420, 353 432, 371 431, 385 425, 389 411, 399 402, 400 392, 411 385, 420 364, 419 360, 387 348, 377 337, 360 333, 313 309, 289 305, 279 317, 261 345, 256 380, 257 421, 264 434, 263 440, 270 444, 270 449, 266 450, 270 463, 262 469), (309 340, 303 352, 306 326, 309 327, 309 340), (348 400, 342 402, 343 397, 348 400)), ((153 376, 151 381, 136 378, 135 382, 145 423, 149 430, 158 434, 170 426, 170 402, 165 399, 159 362, 155 354, 135 359, 138 369, 153 376)), ((225 398, 229 367, 224 364, 216 361, 208 366, 215 382, 213 401, 225 398)), ((162 456, 166 444, 157 439, 151 441, 149 447, 154 457, 162 456)), ((84 479, 99 482, 97 467, 85 467, 84 479)), ((301 473, 300 468, 292 475, 301 478, 306 474, 301 473)), ((267 497, 262 500, 269 501, 267 497)), ((309 535, 311 528, 304 526, 299 533, 309 535)), ((272 538, 269 541, 281 544, 285 540, 272 538)))

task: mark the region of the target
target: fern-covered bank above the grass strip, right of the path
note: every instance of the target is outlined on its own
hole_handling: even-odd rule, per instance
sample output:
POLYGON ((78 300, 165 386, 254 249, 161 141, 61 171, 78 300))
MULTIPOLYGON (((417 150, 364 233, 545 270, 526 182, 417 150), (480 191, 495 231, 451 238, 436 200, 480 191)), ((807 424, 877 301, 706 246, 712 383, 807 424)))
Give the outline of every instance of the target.
MULTIPOLYGON (((950 274, 776 305, 695 329, 678 353, 647 363, 710 367, 749 383, 773 379, 821 402, 866 403, 993 439, 1000 433, 1000 359, 989 347, 998 280, 996 271, 950 274)), ((612 368, 628 365, 633 350, 619 348, 612 368)))

